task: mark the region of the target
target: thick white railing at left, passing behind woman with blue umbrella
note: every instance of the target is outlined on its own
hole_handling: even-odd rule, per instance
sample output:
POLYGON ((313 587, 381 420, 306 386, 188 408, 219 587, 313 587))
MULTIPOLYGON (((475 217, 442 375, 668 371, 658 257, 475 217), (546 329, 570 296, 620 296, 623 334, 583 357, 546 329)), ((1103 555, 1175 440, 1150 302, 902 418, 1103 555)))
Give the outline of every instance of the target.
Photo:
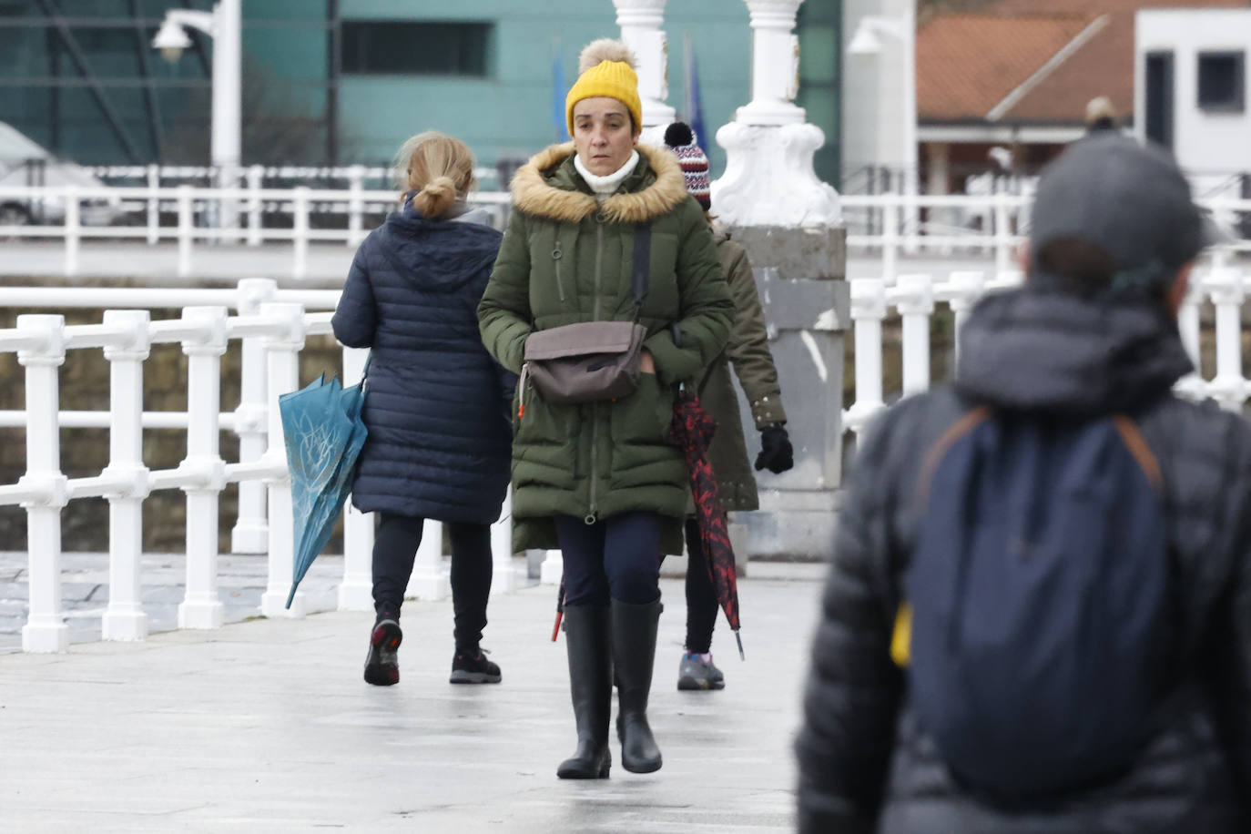
MULTIPOLYGON (((65 294, 78 289, 64 289, 65 294)), ((146 290, 145 290, 146 291, 146 290)), ((218 594, 218 501, 226 484, 239 484, 239 519, 233 549, 268 554, 268 583, 260 610, 268 616, 300 616, 306 601, 296 593, 284 608, 293 568, 291 495, 283 448, 281 394, 299 386, 299 354, 305 338, 330 333, 330 313, 309 313, 283 298, 271 280, 240 283, 231 304, 186 306, 178 319, 153 321, 146 309, 106 310, 100 324, 69 325, 58 314, 20 315, 0 329, 0 354, 16 354, 25 369, 25 409, 0 413, 4 425, 25 426, 26 474, 0 485, 0 505, 26 510, 29 616, 23 628, 26 651, 64 651, 68 626, 61 613, 61 509, 71 500, 109 500, 109 605, 101 633, 106 640, 141 640, 148 616, 140 604, 143 503, 154 490, 186 494, 186 591, 178 609, 180 628, 221 625, 218 594), (240 404, 220 411, 221 355, 241 343, 240 404), (144 363, 151 345, 180 344, 188 358, 186 410, 143 410, 144 363), (103 413, 60 410, 59 368, 70 350, 103 349, 109 363, 110 408, 103 413), (20 420, 19 420, 20 418, 20 420), (60 428, 109 428, 109 465, 89 478, 66 478, 60 463, 60 428), (185 428, 186 456, 174 469, 153 470, 143 460, 144 428, 185 428), (239 435, 239 460, 225 461, 218 438, 223 428, 239 435)), ((223 299, 224 300, 224 299, 223 299)), ((344 349, 345 384, 360 379, 367 351, 344 349)), ((508 510, 492 530, 495 570, 492 593, 515 588, 508 510)), ((442 530, 428 524, 410 595, 447 593, 442 530)), ((354 509, 344 529, 344 576, 339 606, 368 610, 372 519, 354 509)))

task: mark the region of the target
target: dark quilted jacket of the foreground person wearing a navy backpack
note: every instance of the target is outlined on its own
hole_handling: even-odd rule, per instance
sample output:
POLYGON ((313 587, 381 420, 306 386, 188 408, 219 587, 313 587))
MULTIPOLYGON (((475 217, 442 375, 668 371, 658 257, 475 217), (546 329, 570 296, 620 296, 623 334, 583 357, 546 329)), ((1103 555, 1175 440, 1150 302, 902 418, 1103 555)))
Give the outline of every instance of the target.
POLYGON ((940 386, 877 421, 842 503, 813 643, 796 741, 801 831, 1251 831, 1251 428, 1212 403, 1171 395, 1190 369, 1160 309, 1005 293, 985 299, 961 334, 961 396, 940 386), (919 513, 917 465, 970 400, 1072 418, 1130 414, 1165 481, 1175 709, 1162 709, 1120 779, 1035 805, 983 801, 952 778, 889 659, 919 513))

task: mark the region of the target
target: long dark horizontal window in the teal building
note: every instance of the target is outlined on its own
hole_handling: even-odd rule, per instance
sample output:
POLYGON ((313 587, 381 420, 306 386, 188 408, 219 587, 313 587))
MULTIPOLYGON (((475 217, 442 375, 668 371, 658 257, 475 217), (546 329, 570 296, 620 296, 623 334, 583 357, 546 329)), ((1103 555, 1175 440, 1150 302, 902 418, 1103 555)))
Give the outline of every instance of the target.
POLYGON ((490 24, 343 21, 343 71, 360 75, 487 75, 490 24))

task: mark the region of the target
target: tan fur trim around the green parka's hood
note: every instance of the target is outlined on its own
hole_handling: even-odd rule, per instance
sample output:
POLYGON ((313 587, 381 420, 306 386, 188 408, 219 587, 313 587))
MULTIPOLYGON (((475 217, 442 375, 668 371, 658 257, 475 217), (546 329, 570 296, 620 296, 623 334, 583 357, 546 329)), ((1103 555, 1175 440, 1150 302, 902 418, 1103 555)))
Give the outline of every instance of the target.
MULTIPOLYGON (((688 196, 682 166, 671 151, 662 148, 638 145, 638 153, 647 164, 647 170, 642 171, 642 188, 614 194, 600 204, 593 194, 560 188, 558 169, 572 159, 573 143, 550 145, 532 156, 513 176, 513 206, 527 214, 565 223, 579 223, 599 209, 613 223, 644 223, 668 214, 688 196), (648 173, 654 179, 647 176, 648 173)), ((636 176, 638 171, 631 174, 626 183, 636 176)))

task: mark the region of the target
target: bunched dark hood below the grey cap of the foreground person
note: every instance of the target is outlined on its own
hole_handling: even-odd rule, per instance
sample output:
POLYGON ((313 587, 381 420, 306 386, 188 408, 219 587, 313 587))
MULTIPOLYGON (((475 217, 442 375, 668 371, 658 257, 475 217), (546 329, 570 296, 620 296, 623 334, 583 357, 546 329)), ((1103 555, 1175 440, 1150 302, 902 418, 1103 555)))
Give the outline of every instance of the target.
POLYGON ((956 389, 1003 409, 1090 418, 1132 414, 1191 370, 1177 323, 1158 301, 1027 286, 973 309, 961 331, 956 389))

